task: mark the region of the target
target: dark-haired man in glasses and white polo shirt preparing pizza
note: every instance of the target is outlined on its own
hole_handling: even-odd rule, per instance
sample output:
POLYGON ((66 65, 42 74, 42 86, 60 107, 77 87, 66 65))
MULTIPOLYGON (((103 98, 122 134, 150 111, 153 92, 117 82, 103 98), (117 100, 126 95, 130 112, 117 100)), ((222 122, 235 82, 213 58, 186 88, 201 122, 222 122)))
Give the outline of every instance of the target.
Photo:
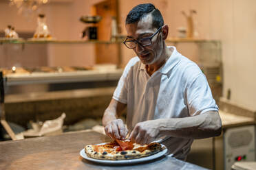
POLYGON ((137 57, 125 67, 105 110, 111 138, 160 141, 168 154, 186 159, 194 138, 218 136, 222 123, 206 77, 198 66, 167 47, 168 25, 151 3, 134 7, 126 19, 125 45, 137 57), (127 107, 127 128, 118 119, 127 107))

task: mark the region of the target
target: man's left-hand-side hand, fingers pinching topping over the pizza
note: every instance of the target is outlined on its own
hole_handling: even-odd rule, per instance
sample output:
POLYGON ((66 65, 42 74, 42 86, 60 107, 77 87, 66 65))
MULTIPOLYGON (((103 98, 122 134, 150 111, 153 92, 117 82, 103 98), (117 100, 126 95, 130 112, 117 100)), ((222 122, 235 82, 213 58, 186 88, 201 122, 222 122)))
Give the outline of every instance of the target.
POLYGON ((118 140, 125 140, 127 136, 128 130, 125 127, 122 119, 115 119, 114 121, 110 121, 105 126, 105 132, 107 136, 118 139, 118 140))

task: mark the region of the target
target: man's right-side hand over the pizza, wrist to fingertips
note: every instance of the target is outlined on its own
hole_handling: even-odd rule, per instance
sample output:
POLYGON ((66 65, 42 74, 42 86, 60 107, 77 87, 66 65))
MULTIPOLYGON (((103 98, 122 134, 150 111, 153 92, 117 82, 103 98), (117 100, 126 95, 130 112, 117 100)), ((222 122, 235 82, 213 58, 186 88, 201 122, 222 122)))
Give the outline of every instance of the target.
POLYGON ((129 136, 129 140, 141 145, 149 144, 160 134, 159 125, 158 120, 137 123, 129 136))

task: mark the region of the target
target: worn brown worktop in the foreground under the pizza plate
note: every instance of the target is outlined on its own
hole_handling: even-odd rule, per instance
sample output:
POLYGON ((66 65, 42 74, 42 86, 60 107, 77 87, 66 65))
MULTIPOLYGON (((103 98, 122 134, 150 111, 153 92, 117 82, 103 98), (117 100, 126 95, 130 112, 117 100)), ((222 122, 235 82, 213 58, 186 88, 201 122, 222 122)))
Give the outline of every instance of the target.
POLYGON ((0 169, 204 169, 168 156, 135 165, 100 165, 79 155, 85 145, 109 140, 98 132, 81 131, 0 142, 0 169))

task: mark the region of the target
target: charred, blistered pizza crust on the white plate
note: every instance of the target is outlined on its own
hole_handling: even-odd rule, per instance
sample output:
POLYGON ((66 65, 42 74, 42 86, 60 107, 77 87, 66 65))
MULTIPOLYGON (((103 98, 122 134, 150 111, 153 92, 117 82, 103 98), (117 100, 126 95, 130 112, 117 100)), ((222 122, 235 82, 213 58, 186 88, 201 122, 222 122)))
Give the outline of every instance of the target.
POLYGON ((87 145, 85 146, 85 153, 90 158, 100 160, 127 160, 151 156, 159 151, 162 151, 162 146, 160 143, 150 143, 149 145, 138 145, 134 143, 134 149, 125 151, 114 151, 115 149, 109 149, 107 147, 104 149, 96 148, 99 146, 100 145, 87 145))

